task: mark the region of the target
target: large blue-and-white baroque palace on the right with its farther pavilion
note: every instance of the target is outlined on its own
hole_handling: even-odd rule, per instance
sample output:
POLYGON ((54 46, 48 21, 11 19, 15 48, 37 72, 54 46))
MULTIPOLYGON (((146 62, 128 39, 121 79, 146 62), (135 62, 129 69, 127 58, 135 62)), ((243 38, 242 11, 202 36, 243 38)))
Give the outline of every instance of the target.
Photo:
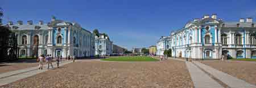
POLYGON ((192 59, 256 58, 256 28, 252 18, 226 22, 204 15, 171 32, 170 43, 160 38, 158 55, 171 49, 172 56, 192 59), (168 47, 167 47, 168 46, 168 47))

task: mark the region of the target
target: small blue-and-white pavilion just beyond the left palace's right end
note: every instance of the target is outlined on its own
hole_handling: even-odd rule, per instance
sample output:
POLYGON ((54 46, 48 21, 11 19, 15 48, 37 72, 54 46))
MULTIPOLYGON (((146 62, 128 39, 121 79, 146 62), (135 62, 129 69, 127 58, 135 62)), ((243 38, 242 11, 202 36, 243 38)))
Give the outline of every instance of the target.
POLYGON ((96 55, 112 55, 113 42, 103 34, 100 37, 95 36, 95 54, 96 55))

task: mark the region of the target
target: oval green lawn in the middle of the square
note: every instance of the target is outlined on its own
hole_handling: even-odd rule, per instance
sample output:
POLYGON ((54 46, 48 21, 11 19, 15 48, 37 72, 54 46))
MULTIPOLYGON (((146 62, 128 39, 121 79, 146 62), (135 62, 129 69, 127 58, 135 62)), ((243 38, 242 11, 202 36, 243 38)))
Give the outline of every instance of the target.
POLYGON ((119 56, 114 58, 101 59, 106 61, 159 61, 148 56, 119 56))

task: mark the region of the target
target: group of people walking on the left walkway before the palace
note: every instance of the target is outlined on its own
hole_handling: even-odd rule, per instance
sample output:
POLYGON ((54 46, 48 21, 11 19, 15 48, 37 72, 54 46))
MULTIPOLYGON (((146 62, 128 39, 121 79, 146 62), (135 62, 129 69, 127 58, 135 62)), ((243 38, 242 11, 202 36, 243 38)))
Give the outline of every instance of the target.
MULTIPOLYGON (((49 66, 51 65, 51 67, 52 68, 54 68, 53 67, 53 65, 52 65, 52 62, 53 62, 53 57, 52 57, 52 55, 40 55, 39 56, 39 58, 38 58, 38 61, 39 61, 39 66, 38 66, 38 69, 43 69, 43 64, 44 64, 44 62, 46 61, 46 63, 47 63, 47 69, 49 69, 49 66)), ((56 57, 56 67, 57 68, 59 68, 59 64, 60 64, 60 61, 62 61, 62 56, 57 56, 56 57)))

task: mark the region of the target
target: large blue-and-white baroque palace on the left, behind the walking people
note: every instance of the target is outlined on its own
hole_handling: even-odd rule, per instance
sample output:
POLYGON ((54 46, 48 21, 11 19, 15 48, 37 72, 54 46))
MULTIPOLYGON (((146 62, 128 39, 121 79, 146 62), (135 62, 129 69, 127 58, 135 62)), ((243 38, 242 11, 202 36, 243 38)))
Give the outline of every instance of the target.
POLYGON ((27 21, 23 24, 9 22, 7 24, 18 36, 20 56, 36 56, 51 54, 55 56, 68 55, 77 57, 94 56, 94 34, 82 28, 78 23, 57 20, 55 17, 50 23, 33 24, 27 21))

